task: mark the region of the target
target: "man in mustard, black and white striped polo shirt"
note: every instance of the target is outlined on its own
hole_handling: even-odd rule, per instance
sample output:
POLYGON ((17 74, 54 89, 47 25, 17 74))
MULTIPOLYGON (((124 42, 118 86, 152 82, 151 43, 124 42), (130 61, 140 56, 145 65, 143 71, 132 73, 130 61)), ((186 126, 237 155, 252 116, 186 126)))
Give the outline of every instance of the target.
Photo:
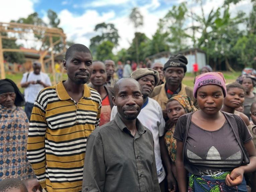
POLYGON ((87 137, 99 125, 101 98, 86 85, 92 55, 74 44, 63 60, 68 80, 43 89, 31 114, 27 158, 48 192, 82 190, 87 137))

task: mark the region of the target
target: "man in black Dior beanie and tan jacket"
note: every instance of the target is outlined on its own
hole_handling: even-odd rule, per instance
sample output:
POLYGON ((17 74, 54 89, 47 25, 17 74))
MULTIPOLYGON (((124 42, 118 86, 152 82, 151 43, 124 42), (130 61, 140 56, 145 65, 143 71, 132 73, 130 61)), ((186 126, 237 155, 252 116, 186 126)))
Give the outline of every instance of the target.
POLYGON ((187 58, 183 55, 176 55, 164 64, 165 83, 155 87, 150 95, 155 99, 163 110, 164 117, 167 117, 166 103, 173 95, 187 95, 198 108, 196 99, 193 97, 193 89, 182 84, 182 80, 187 71, 187 58))

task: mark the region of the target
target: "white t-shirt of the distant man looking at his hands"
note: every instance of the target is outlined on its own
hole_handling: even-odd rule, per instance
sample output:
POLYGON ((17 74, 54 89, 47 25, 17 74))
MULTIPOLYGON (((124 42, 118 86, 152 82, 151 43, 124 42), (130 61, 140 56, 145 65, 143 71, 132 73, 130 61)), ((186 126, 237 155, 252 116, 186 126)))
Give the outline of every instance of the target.
MULTIPOLYGON (((29 72, 28 78, 27 74, 28 72, 23 74, 20 84, 26 83, 28 81, 40 80, 46 85, 52 86, 51 80, 46 73, 40 72, 40 74, 36 75, 34 72, 29 72)), ((24 90, 25 101, 28 103, 34 103, 38 93, 44 88, 45 87, 41 84, 29 84, 28 87, 26 87, 24 90)))

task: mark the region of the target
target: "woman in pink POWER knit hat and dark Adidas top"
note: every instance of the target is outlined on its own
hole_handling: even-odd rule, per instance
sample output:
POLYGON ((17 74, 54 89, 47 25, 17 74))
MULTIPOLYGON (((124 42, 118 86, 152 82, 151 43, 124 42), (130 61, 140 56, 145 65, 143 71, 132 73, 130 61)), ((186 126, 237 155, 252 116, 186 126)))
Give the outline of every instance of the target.
POLYGON ((219 72, 197 76, 193 95, 200 110, 176 123, 180 192, 247 191, 243 175, 256 170, 256 149, 244 121, 220 111, 227 95, 225 83, 219 72))

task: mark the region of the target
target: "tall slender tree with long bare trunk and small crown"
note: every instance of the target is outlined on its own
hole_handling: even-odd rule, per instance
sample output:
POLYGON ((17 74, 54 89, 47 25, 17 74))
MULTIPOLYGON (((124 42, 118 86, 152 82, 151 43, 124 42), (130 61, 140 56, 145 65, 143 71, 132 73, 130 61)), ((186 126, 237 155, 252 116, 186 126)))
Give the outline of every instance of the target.
MULTIPOLYGON (((130 20, 133 22, 135 30, 137 32, 138 27, 143 26, 143 16, 140 13, 139 9, 137 7, 134 7, 132 9, 132 12, 129 15, 130 20)), ((137 39, 137 36, 135 34, 135 50, 136 50, 136 61, 137 64, 139 64, 139 55, 140 55, 140 49, 139 49, 139 39, 137 39)))

